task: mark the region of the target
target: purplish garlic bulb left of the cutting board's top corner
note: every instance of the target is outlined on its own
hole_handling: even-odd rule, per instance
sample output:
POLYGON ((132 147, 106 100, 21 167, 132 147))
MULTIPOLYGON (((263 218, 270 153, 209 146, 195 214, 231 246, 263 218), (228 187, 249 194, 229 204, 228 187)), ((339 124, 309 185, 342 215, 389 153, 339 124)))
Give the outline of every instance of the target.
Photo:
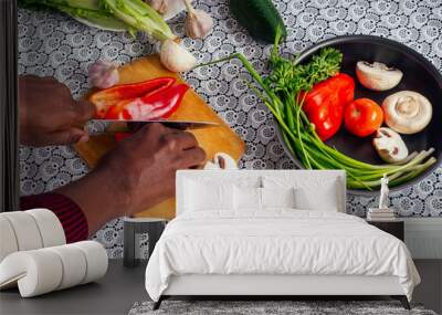
POLYGON ((118 67, 107 61, 98 60, 90 66, 88 71, 91 86, 107 88, 119 81, 118 67))

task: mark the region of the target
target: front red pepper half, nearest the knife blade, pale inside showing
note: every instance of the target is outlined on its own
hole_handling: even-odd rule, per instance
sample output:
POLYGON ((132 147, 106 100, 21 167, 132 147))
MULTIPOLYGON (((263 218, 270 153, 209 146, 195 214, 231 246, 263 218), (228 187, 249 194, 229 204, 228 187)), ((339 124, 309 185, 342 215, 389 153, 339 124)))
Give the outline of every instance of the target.
POLYGON ((105 118, 122 120, 167 118, 177 111, 188 90, 188 85, 178 84, 158 88, 143 97, 122 101, 108 109, 105 118))

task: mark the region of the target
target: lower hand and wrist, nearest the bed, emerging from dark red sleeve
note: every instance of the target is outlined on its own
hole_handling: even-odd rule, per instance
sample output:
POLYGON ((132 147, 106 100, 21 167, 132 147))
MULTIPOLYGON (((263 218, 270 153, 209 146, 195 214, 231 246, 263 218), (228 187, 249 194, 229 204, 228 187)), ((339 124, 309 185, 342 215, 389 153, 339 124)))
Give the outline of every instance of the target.
POLYGON ((93 233, 112 219, 173 197, 176 171, 198 167, 204 159, 192 134, 149 124, 118 143, 83 179, 57 192, 82 208, 93 233))

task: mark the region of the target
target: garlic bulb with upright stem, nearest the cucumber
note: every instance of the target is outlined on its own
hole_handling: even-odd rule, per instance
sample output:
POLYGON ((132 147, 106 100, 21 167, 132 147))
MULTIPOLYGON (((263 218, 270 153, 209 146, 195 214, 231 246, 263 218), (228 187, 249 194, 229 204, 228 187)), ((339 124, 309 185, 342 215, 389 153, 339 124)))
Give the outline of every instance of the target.
POLYGON ((185 0, 188 14, 185 22, 186 34, 192 39, 202 39, 210 33, 213 27, 213 19, 209 13, 193 9, 190 0, 185 0))

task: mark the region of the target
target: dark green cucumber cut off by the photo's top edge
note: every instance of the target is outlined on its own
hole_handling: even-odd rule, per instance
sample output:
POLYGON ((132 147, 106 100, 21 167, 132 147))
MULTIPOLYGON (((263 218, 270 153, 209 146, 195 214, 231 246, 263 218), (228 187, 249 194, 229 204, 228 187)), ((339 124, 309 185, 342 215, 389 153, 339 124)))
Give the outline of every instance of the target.
POLYGON ((273 43, 277 28, 287 35, 283 19, 271 0, 230 0, 230 11, 256 40, 273 43))

